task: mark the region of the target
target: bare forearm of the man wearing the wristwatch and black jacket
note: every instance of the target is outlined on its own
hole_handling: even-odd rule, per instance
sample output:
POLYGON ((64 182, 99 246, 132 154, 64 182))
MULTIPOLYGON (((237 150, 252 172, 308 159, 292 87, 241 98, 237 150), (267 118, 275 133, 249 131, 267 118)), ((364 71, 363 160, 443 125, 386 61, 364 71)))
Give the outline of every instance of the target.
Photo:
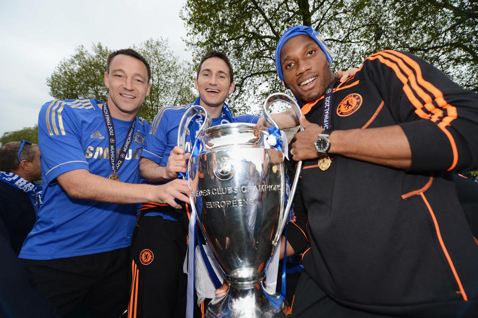
POLYGON ((411 165, 410 145, 399 125, 335 130, 330 135, 330 141, 331 154, 399 169, 407 169, 411 165))

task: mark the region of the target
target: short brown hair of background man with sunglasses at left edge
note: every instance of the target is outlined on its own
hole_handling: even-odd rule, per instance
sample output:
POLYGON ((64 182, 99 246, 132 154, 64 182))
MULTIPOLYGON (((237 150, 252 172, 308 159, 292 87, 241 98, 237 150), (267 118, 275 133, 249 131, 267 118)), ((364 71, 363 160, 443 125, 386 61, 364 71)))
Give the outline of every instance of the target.
MULTIPOLYGON (((10 141, 0 148, 0 171, 12 172, 18 169, 18 149, 20 149, 21 141, 10 141)), ((38 145, 25 143, 20 153, 21 160, 33 162, 37 155, 36 149, 38 145)))

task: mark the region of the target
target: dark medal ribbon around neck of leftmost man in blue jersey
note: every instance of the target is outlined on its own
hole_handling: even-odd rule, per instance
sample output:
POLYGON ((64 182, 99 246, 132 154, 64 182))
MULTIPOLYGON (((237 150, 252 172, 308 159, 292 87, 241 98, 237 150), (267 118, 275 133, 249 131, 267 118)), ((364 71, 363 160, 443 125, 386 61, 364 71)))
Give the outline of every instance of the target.
POLYGON ((129 146, 133 141, 133 132, 134 126, 136 124, 136 118, 134 118, 131 126, 129 127, 128 134, 124 138, 123 145, 119 151, 118 161, 116 160, 116 133, 115 126, 113 125, 113 117, 110 114, 110 109, 108 108, 108 102, 103 104, 103 119, 105 119, 106 128, 108 130, 108 142, 110 145, 109 154, 110 154, 110 164, 113 174, 116 174, 126 158, 126 153, 129 150, 129 146))

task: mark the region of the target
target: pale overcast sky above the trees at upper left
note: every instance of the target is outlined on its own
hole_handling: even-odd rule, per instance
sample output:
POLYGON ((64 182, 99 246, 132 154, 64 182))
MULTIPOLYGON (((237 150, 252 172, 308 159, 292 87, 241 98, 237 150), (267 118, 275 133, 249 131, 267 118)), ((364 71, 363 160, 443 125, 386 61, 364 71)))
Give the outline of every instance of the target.
POLYGON ((120 49, 163 37, 180 59, 190 60, 179 17, 184 3, 0 0, 0 136, 37 123, 40 107, 52 100, 46 78, 81 44, 120 49))

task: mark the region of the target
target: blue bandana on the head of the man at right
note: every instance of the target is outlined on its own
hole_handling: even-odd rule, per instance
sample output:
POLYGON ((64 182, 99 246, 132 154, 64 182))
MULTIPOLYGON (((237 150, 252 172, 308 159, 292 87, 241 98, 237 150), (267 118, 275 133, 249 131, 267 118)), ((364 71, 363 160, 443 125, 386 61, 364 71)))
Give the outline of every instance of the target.
POLYGON ((281 81, 284 81, 284 76, 282 75, 282 67, 280 66, 280 51, 282 50, 282 46, 285 44, 285 42, 287 42, 288 39, 300 34, 308 35, 310 38, 312 38, 314 41, 317 42, 317 44, 320 46, 322 51, 324 51, 325 56, 327 57, 327 61, 329 62, 329 67, 332 65, 332 62, 334 61, 332 59, 332 54, 329 50, 329 47, 324 42, 320 34, 317 33, 316 30, 314 30, 310 26, 305 26, 305 25, 293 26, 289 28, 287 31, 285 31, 284 34, 282 34, 282 36, 279 39, 279 42, 277 42, 277 47, 275 48, 275 69, 281 81))

